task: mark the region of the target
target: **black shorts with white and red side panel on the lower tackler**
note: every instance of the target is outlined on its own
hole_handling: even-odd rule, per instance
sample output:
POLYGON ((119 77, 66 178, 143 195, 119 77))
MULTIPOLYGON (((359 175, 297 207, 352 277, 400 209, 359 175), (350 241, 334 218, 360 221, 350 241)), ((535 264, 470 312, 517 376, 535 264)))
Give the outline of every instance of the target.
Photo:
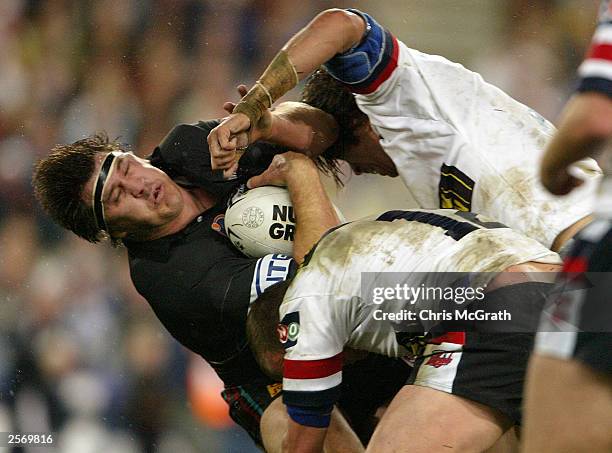
POLYGON ((537 325, 534 310, 541 309, 551 288, 550 283, 531 282, 491 292, 483 304, 507 307, 510 300, 516 300, 529 312, 522 320, 521 332, 505 332, 503 325, 478 321, 471 331, 439 337, 426 345, 415 361, 408 384, 476 401, 520 425, 523 384, 537 325))

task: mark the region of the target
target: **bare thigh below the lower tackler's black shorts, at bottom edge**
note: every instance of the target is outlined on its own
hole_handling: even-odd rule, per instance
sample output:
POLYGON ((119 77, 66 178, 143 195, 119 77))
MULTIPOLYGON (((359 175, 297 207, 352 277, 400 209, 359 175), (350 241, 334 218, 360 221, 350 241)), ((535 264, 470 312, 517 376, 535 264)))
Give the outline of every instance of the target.
POLYGON ((500 412, 465 398, 406 385, 381 419, 368 452, 482 452, 511 422, 500 412))

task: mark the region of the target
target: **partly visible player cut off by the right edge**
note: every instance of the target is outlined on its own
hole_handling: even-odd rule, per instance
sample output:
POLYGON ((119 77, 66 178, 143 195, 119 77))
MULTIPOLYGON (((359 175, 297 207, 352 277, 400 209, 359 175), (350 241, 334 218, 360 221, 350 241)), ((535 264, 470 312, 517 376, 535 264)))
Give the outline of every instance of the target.
POLYGON ((578 92, 542 162, 542 182, 563 195, 580 184, 568 166, 601 154, 604 177, 595 220, 565 261, 590 288, 551 299, 537 334, 526 387, 525 453, 612 451, 612 2, 603 1, 578 92))

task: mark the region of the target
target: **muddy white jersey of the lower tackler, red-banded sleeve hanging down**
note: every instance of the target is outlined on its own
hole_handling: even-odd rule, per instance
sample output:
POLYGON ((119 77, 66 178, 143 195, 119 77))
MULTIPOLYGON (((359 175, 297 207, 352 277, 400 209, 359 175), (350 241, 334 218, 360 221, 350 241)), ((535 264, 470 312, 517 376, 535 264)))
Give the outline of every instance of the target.
POLYGON ((434 273, 495 273, 526 261, 560 263, 534 239, 456 210, 390 211, 333 230, 307 256, 280 307, 285 403, 333 404, 345 347, 408 352, 391 323, 369 324, 375 307, 362 294, 362 273, 401 272, 403 283, 418 287, 432 284, 434 273))

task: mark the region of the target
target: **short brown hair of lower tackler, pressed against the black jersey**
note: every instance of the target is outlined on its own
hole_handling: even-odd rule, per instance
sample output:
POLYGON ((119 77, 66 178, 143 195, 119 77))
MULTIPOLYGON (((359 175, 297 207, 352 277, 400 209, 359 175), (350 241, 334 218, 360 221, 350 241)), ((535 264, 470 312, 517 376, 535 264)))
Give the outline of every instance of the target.
POLYGON ((277 333, 278 309, 291 281, 288 279, 266 289, 251 304, 247 316, 246 332, 251 350, 259 366, 272 378, 280 377, 278 372, 285 354, 277 333))

